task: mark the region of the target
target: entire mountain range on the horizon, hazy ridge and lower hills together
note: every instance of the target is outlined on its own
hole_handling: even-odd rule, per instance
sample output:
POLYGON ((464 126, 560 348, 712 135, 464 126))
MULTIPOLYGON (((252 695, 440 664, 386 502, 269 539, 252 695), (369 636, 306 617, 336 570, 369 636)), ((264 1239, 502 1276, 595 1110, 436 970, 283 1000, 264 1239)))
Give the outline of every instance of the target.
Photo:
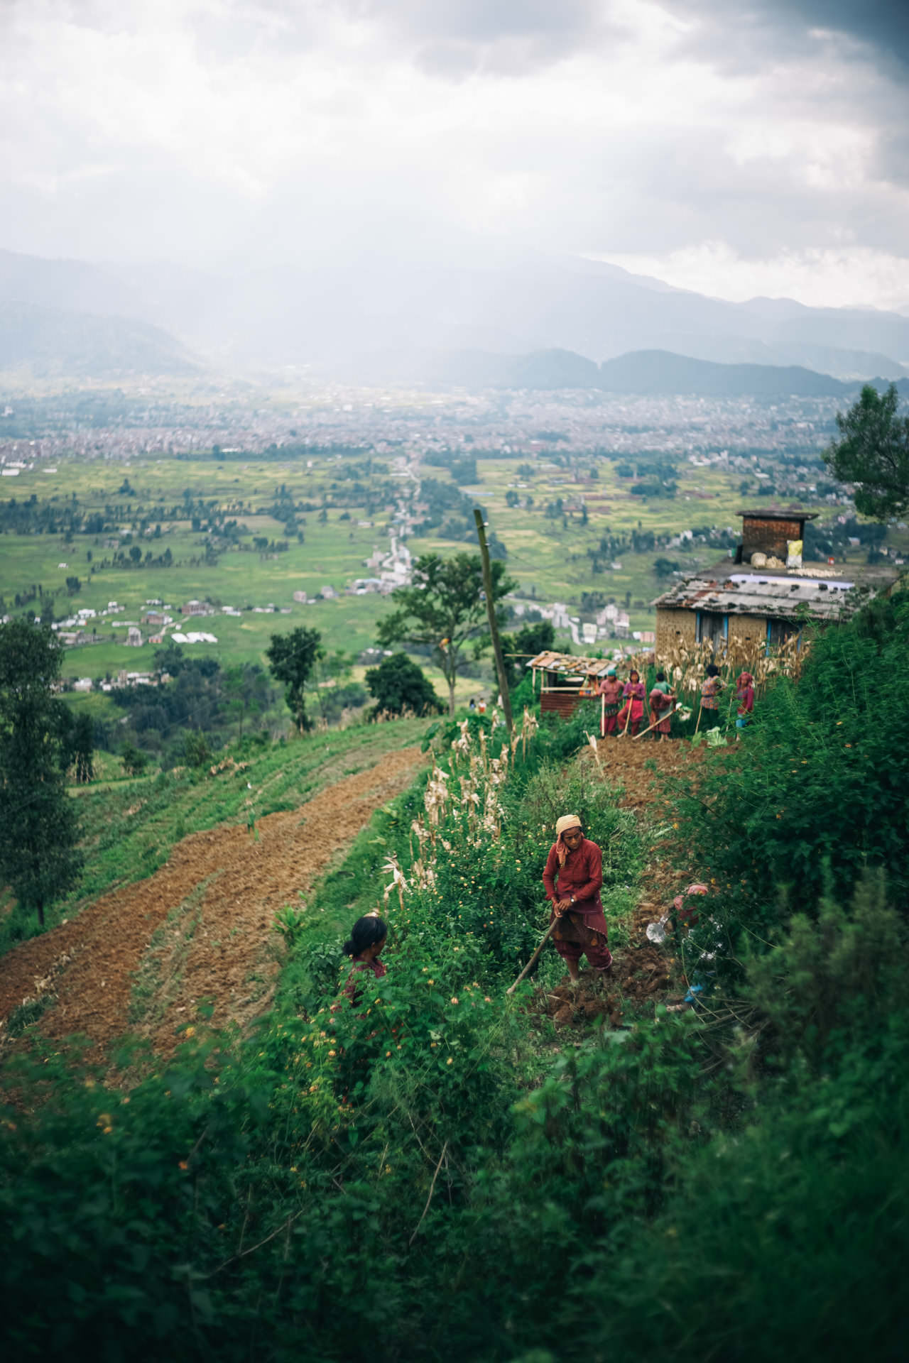
MULTIPOLYGON (((199 357, 218 369, 307 365, 364 382, 433 382, 448 372, 448 382, 495 384, 504 375, 507 386, 553 387, 560 386, 553 373, 586 372, 591 387, 602 387, 624 372, 604 363, 628 352, 669 352, 803 372, 788 380, 763 373, 775 387, 748 391, 784 391, 786 382, 810 391, 815 380, 805 371, 848 382, 909 375, 909 316, 899 312, 808 308, 786 298, 726 303, 583 259, 398 258, 331 267, 251 260, 206 273, 0 251, 0 363, 8 367, 22 352, 20 363, 37 356, 65 368, 75 353, 74 372, 99 373, 119 363, 117 334, 127 372, 142 368, 146 354, 150 372, 187 372, 199 357), (108 326, 99 331, 87 318, 108 326)), ((639 368, 623 363, 628 373, 639 368)), ((690 369, 684 378, 666 360, 649 364, 660 375, 653 382, 671 387, 635 391, 690 391, 672 384, 695 380, 728 391, 713 371, 690 369)), ((744 378, 762 376, 735 382, 744 378)))

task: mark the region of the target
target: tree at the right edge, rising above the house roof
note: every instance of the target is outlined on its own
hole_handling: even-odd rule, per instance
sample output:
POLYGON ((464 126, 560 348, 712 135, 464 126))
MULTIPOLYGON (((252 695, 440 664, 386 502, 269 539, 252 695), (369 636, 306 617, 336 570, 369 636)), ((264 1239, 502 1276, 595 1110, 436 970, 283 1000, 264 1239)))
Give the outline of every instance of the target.
POLYGON ((856 485, 856 511, 887 521, 909 508, 909 416, 897 414, 898 394, 869 383, 844 416, 839 439, 825 450, 825 463, 841 483, 856 485))

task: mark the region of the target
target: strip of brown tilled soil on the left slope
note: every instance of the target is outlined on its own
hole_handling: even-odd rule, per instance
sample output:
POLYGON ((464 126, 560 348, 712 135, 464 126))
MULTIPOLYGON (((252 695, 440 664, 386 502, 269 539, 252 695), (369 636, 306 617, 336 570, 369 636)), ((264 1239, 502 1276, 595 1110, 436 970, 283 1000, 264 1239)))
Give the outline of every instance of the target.
POLYGON ((391 752, 298 810, 260 819, 258 840, 236 825, 184 838, 147 880, 105 894, 11 951, 0 962, 0 1018, 59 972, 41 1030, 87 1036, 94 1058, 127 1030, 170 1050, 174 1028, 202 999, 213 1003, 215 1026, 248 1021, 274 990, 278 966, 266 946, 275 912, 298 904, 297 891, 424 762, 418 748, 391 752))

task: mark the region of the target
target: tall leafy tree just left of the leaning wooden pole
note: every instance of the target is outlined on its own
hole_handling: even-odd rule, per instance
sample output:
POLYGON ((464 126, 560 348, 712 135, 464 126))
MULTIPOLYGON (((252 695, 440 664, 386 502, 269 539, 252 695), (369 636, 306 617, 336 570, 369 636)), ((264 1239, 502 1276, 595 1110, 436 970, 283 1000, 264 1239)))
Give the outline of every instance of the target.
MULTIPOLYGON (((504 563, 492 564, 493 602, 511 592, 504 563)), ((414 560, 413 582, 391 593, 397 611, 379 623, 376 638, 388 649, 418 643, 432 649, 432 657, 448 683, 448 714, 454 714, 454 688, 465 662, 465 646, 473 641, 477 654, 484 643, 487 602, 482 594, 482 562, 478 553, 455 553, 442 559, 424 553, 414 560)), ((499 623, 504 612, 497 608, 499 623)))

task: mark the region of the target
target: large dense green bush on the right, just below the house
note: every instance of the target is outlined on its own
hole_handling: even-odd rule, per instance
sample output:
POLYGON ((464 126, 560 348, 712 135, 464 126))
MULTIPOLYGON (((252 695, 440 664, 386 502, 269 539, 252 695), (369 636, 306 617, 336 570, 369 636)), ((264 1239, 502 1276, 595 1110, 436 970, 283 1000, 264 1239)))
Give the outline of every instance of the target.
POLYGON ((685 838, 729 917, 754 931, 825 891, 849 897, 865 867, 909 891, 909 600, 878 600, 814 645, 801 680, 780 679, 735 751, 709 758, 696 797, 680 792, 685 838), (778 887, 786 890, 780 895, 778 887))

